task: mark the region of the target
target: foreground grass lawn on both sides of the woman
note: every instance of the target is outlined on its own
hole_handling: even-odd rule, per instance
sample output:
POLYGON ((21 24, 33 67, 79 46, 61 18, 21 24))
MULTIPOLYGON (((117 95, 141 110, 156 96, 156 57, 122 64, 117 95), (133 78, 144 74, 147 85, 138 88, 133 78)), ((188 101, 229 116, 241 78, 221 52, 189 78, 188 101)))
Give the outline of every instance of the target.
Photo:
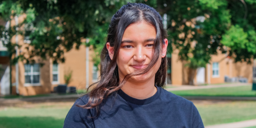
MULTIPOLYGON (((204 101, 194 104, 205 126, 256 119, 256 102, 204 101)), ((0 107, 0 128, 62 128, 72 105, 73 102, 51 102, 0 107)))

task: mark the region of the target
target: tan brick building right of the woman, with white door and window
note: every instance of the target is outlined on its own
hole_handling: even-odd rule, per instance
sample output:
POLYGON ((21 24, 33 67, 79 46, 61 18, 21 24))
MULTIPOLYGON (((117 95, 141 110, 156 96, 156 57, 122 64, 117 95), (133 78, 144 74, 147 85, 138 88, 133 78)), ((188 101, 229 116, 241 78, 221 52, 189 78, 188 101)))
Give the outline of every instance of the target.
MULTIPOLYGON (((209 64, 197 69, 194 84, 221 84, 225 82, 225 77, 226 82, 227 79, 229 79, 228 82, 247 79, 247 82, 251 83, 253 78, 256 78, 256 61, 251 61, 251 64, 247 64, 247 62, 235 63, 233 59, 219 52, 217 55, 212 55, 209 64)), ((171 69, 172 72, 169 76, 171 76, 172 84, 188 84, 188 69, 184 62, 178 61, 178 50, 174 50, 172 53, 171 69)))

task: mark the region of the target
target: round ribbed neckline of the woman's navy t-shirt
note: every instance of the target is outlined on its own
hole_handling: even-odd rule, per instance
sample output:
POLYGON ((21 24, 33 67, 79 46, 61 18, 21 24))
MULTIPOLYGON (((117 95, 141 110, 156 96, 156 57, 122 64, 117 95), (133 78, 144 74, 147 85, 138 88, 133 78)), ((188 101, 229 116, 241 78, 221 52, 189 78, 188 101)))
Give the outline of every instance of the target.
POLYGON ((122 97, 124 100, 126 100, 126 102, 130 102, 130 103, 133 103, 133 104, 136 104, 136 105, 145 105, 145 104, 149 104, 151 102, 154 102, 158 98, 159 94, 161 93, 161 88, 158 87, 158 86, 156 86, 156 88, 157 88, 157 92, 152 97, 149 97, 149 98, 146 98, 146 99, 143 99, 143 100, 136 99, 134 97, 130 97, 129 95, 124 93, 121 89, 119 89, 117 91, 117 93, 120 97, 122 97))

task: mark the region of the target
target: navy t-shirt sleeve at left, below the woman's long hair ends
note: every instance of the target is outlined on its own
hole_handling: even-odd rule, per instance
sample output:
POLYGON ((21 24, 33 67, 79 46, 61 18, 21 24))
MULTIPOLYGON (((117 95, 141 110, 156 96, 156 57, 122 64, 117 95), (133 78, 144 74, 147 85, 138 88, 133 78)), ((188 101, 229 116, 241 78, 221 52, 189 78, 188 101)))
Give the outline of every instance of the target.
POLYGON ((76 100, 65 118, 63 128, 94 128, 90 110, 76 105, 85 105, 85 103, 80 98, 76 100))

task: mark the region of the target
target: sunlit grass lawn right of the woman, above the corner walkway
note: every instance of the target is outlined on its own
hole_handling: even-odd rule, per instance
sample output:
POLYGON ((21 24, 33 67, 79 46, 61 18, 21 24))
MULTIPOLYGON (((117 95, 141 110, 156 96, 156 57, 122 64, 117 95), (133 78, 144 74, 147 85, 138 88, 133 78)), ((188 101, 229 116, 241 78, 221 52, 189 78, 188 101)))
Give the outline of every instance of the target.
MULTIPOLYGON (((194 103, 204 125, 224 124, 256 119, 256 102, 194 103)), ((254 128, 254 127, 252 127, 254 128)))

